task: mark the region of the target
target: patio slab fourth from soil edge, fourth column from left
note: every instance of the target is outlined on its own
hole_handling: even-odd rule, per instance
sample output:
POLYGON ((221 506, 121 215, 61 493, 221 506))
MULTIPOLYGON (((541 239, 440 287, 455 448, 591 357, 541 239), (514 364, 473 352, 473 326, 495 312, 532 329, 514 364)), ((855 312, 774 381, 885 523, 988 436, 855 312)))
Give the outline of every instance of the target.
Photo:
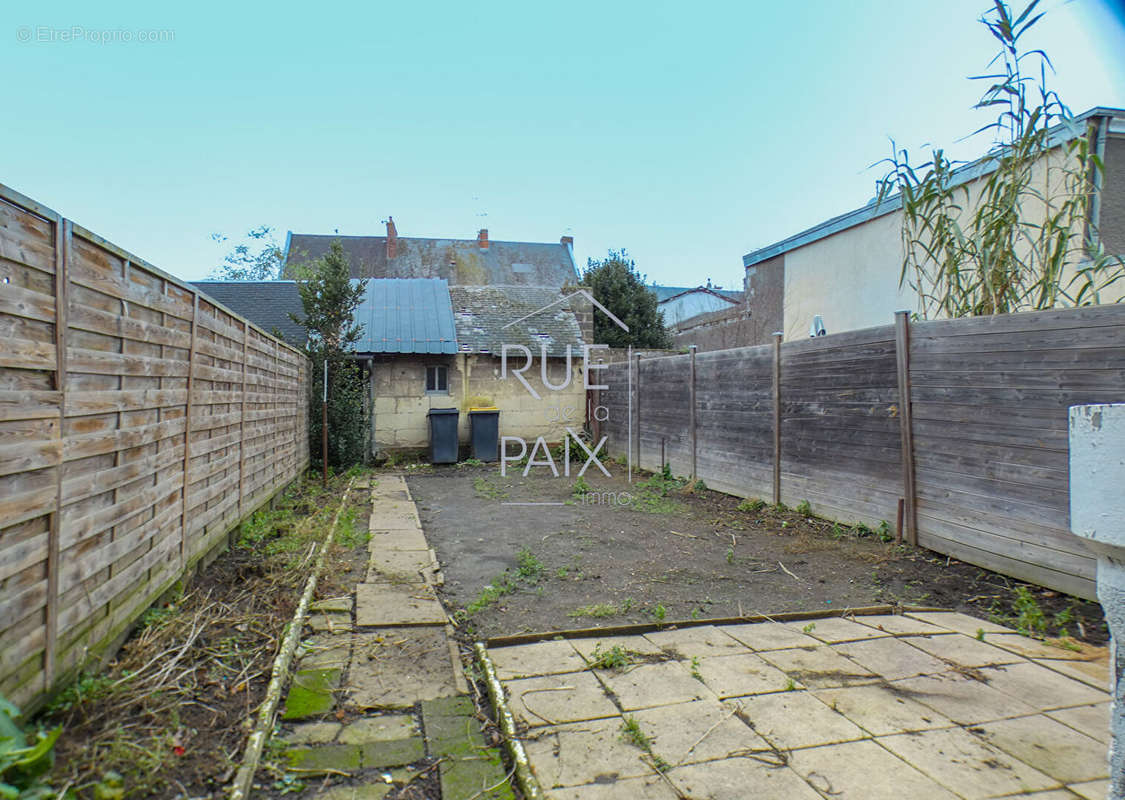
POLYGON ((879 744, 968 800, 1059 785, 964 728, 885 736, 879 744))

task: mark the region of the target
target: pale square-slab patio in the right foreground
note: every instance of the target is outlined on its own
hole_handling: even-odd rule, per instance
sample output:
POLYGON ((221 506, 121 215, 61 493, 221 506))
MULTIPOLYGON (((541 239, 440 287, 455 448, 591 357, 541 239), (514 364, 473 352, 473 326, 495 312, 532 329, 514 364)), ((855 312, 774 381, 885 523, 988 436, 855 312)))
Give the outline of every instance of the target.
POLYGON ((489 655, 555 800, 1107 792, 1106 648, 1060 649, 964 614, 701 626, 489 655))

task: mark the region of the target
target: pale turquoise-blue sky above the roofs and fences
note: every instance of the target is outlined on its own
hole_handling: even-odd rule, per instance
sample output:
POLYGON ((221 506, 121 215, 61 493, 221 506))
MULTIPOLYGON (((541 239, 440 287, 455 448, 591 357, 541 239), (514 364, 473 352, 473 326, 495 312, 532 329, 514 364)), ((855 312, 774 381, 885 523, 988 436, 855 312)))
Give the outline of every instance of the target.
MULTIPOLYGON (((390 214, 740 286, 744 253, 863 205, 889 137, 983 147, 957 142, 987 122, 983 0, 245 6, 6 9, 0 182, 186 279, 213 232, 390 214)), ((1043 8, 1063 99, 1125 106, 1120 0, 1043 8)))

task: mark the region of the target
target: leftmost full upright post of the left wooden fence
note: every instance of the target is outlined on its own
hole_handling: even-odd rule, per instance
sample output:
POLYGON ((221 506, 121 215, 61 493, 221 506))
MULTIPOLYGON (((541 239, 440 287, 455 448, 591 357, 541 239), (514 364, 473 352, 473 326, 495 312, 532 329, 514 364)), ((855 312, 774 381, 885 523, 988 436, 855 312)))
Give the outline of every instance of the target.
POLYGON ((63 513, 63 461, 66 426, 66 316, 70 277, 71 222, 55 222, 55 392, 58 393, 58 465, 55 467, 55 511, 47 531, 46 637, 43 647, 44 687, 57 677, 58 658, 58 556, 63 513))

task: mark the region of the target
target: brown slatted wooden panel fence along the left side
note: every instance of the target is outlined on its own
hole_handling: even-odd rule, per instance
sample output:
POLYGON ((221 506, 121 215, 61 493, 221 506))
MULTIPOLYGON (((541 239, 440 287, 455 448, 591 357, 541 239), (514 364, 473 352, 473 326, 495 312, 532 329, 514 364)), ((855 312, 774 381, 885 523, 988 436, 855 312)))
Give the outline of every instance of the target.
POLYGON ((0 186, 0 692, 37 703, 308 462, 308 365, 0 186))

